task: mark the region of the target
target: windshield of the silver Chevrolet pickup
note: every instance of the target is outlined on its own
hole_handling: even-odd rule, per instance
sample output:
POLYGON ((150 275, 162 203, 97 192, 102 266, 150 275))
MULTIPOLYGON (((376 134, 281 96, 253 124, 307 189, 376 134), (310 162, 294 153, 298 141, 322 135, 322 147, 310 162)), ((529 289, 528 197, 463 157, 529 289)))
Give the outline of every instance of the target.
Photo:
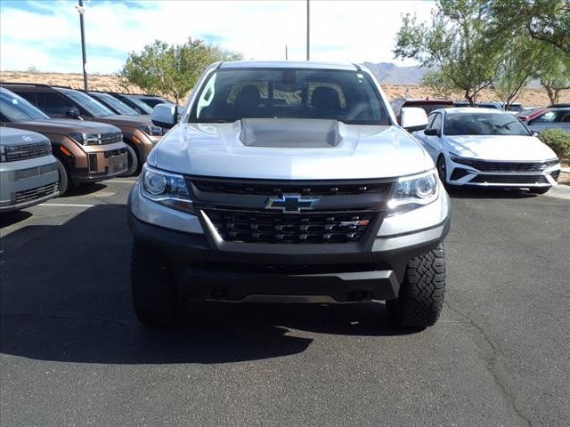
POLYGON ((306 68, 218 69, 202 85, 190 121, 273 117, 390 124, 384 102, 365 73, 306 68))

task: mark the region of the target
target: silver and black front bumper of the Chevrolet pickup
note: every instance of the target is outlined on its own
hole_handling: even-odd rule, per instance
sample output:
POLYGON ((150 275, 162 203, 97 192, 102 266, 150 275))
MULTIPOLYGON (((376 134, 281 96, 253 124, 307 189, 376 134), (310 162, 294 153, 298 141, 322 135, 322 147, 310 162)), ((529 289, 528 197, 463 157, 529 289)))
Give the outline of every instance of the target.
POLYGON ((167 254, 181 294, 191 298, 355 302, 395 298, 407 262, 444 240, 450 208, 442 192, 431 205, 386 218, 370 241, 358 244, 248 244, 220 241, 204 215, 155 204, 137 184, 128 222, 136 240, 167 254))

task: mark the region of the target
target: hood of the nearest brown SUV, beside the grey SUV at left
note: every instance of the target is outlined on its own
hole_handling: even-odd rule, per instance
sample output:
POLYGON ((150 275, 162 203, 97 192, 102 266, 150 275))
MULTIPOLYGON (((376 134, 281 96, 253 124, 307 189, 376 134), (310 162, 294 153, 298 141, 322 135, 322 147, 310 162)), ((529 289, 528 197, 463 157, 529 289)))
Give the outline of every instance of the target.
POLYGON ((118 133, 118 127, 104 123, 88 122, 73 118, 54 118, 49 120, 29 120, 8 124, 19 129, 28 129, 39 133, 69 135, 69 133, 118 133))

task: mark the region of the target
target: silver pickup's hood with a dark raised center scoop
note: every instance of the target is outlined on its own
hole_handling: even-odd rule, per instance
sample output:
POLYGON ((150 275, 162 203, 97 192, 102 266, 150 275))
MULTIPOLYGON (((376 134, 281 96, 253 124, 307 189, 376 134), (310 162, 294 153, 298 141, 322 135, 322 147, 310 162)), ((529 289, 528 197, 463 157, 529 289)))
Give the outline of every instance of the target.
POLYGON ((419 143, 397 126, 334 121, 331 131, 330 123, 317 122, 332 121, 179 124, 151 151, 147 163, 176 173, 274 180, 383 178, 434 167, 419 143), (329 134, 305 132, 307 123, 329 134))

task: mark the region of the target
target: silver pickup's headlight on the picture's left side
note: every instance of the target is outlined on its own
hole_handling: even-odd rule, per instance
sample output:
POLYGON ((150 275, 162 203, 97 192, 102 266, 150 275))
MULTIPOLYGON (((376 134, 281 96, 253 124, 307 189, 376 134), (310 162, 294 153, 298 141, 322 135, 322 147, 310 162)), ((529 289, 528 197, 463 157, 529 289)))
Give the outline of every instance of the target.
POLYGON ((190 193, 182 175, 160 171, 144 165, 142 167, 141 192, 142 196, 160 205, 178 211, 194 213, 190 193))

